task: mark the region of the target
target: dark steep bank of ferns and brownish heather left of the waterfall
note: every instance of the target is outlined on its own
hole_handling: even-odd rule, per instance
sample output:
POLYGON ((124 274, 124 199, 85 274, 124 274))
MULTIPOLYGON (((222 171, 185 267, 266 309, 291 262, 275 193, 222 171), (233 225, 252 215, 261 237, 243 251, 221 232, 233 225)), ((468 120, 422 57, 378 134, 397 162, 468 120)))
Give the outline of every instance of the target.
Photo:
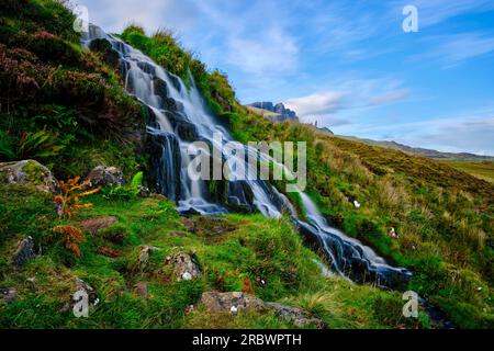
POLYGON ((5 0, 0 13, 0 161, 36 159, 59 178, 145 166, 141 106, 80 47, 74 15, 52 0, 5 0))

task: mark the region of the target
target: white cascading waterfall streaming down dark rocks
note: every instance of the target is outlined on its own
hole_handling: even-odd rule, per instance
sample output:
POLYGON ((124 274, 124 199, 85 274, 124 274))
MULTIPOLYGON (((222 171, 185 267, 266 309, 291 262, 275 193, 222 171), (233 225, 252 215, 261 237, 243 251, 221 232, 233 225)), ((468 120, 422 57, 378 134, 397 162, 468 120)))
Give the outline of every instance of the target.
MULTIPOLYGON (((225 214, 227 208, 211 200, 207 184, 203 180, 192 180, 187 166, 190 156, 187 150, 192 141, 203 140, 223 152, 223 144, 233 140, 231 135, 207 112, 192 77, 190 87, 164 70, 150 58, 134 49, 121 39, 105 34, 94 25, 83 37, 89 47, 94 39, 106 39, 120 55, 121 71, 125 78, 128 93, 138 99, 149 112, 147 125, 151 138, 150 152, 156 188, 168 199, 175 200, 180 212, 199 214, 225 214), (213 137, 222 134, 222 140, 213 137)), ((245 154, 257 155, 262 160, 273 161, 267 155, 259 155, 257 149, 244 146, 245 154)), ((409 272, 390 267, 369 247, 349 238, 330 227, 319 214, 311 199, 300 193, 310 223, 300 220, 288 199, 272 185, 262 180, 235 180, 236 173, 254 172, 251 165, 238 156, 220 154, 222 158, 236 158, 234 163, 245 165, 242 170, 231 168, 233 180, 227 186, 227 202, 231 205, 244 205, 269 217, 280 217, 282 213, 292 216, 292 220, 306 240, 323 249, 328 263, 344 276, 356 282, 370 282, 380 286, 396 287, 405 282, 409 272)), ((237 179, 245 179, 238 178, 237 179)))

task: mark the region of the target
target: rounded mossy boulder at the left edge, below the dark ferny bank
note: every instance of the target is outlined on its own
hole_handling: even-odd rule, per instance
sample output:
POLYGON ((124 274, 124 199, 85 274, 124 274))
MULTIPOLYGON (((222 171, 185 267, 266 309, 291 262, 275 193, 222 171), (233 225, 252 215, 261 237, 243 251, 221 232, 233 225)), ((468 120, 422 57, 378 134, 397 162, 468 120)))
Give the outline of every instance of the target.
POLYGON ((0 163, 0 183, 32 186, 46 193, 60 191, 49 169, 35 160, 0 163))

